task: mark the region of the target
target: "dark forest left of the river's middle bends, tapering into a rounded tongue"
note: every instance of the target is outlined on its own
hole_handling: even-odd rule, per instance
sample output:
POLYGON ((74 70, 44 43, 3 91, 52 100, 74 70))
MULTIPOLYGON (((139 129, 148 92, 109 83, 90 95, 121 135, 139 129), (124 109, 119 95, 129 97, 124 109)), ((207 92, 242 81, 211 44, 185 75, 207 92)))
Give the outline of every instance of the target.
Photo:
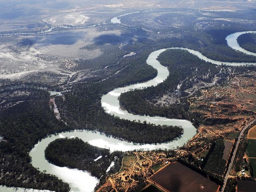
POLYGON ((156 76, 156 70, 146 63, 147 56, 143 53, 120 61, 121 65, 126 65, 126 70, 121 70, 105 81, 73 85, 69 92, 64 93, 65 100, 61 97, 55 100, 61 118, 72 129, 83 127, 138 143, 166 142, 179 137, 183 133, 181 127, 131 122, 105 113, 101 106, 102 95, 110 90, 156 76))

